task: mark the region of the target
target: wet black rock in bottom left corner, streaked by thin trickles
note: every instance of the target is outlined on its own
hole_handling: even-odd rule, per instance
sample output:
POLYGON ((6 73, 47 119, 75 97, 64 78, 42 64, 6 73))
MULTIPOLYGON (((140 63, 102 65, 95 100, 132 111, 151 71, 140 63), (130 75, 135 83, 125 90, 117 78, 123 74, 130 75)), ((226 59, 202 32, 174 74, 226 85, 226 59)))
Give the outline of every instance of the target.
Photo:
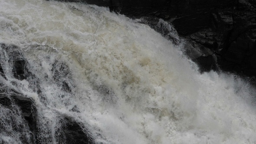
POLYGON ((30 98, 24 95, 10 93, 0 94, 0 105, 5 111, 9 111, 7 119, 2 119, 0 131, 20 134, 19 138, 23 144, 36 143, 36 107, 30 98), (3 124, 3 125, 2 125, 3 124), (7 129, 9 125, 12 130, 7 129))

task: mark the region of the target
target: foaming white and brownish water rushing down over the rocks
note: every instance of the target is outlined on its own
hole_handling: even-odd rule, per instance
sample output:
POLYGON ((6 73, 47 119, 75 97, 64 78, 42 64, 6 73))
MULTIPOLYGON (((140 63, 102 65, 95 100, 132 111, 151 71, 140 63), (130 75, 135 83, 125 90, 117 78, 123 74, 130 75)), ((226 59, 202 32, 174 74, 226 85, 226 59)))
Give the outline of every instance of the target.
MULTIPOLYGON (((96 143, 256 144, 250 85, 200 74, 180 45, 138 22, 94 5, 0 0, 0 43, 18 46, 34 75, 15 79, 0 47, 0 80, 35 102, 38 142, 59 143, 66 115, 96 143)), ((8 115, 0 105, 2 124, 8 115)), ((15 135, 0 141, 21 143, 15 135)))

